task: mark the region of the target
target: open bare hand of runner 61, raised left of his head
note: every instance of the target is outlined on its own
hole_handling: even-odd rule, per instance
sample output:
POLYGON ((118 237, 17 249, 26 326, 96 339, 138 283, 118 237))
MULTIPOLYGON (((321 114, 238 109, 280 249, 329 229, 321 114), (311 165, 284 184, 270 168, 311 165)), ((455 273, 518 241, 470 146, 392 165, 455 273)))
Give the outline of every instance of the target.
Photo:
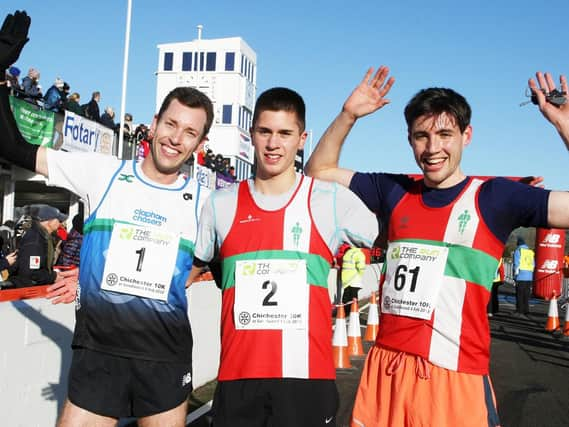
POLYGON ((395 78, 388 78, 389 68, 382 65, 373 77, 372 74, 373 68, 369 68, 363 80, 344 103, 343 111, 354 119, 371 114, 390 102, 385 96, 395 83, 395 78))

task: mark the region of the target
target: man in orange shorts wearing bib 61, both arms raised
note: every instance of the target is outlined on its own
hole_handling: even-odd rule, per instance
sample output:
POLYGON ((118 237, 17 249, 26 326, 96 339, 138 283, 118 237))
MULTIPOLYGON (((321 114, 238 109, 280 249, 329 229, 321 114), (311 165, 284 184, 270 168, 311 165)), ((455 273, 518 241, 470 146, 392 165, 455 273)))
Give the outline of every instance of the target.
MULTIPOLYGON (((389 102, 389 70, 372 74, 348 97, 306 167, 309 175, 349 186, 388 224, 381 328, 351 425, 498 426, 486 316, 494 272, 514 228, 569 227, 569 193, 464 175, 470 106, 444 88, 420 91, 405 108, 423 179, 340 169, 340 149, 356 120, 389 102)), ((551 75, 537 79, 545 93, 555 88, 551 75)), ((529 86, 569 148, 569 105, 556 107, 535 81, 529 86)), ((567 93, 564 77, 561 88, 567 93)))

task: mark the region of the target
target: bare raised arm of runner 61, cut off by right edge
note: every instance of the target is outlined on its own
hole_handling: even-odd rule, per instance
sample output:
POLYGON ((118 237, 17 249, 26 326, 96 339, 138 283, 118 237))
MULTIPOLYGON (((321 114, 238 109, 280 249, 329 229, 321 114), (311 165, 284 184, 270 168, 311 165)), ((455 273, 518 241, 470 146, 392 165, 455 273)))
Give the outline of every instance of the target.
MULTIPOLYGON (((537 83, 529 79, 528 85, 537 98, 537 105, 541 114, 555 127, 559 136, 569 150, 569 102, 555 105, 547 101, 546 94, 556 89, 551 73, 535 73, 537 83)), ((564 75, 559 77, 561 92, 567 98, 569 87, 564 75)), ((569 192, 552 191, 549 194, 547 220, 550 227, 569 228, 569 192)))

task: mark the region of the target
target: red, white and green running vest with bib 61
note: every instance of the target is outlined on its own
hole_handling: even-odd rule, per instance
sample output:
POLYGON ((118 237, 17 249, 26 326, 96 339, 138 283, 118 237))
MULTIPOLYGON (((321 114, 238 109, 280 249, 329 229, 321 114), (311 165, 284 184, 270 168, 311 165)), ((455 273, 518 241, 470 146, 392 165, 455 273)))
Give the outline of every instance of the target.
POLYGON ((389 222, 376 343, 454 371, 487 374, 486 306, 503 244, 478 209, 472 179, 441 208, 422 201, 418 182, 389 222))

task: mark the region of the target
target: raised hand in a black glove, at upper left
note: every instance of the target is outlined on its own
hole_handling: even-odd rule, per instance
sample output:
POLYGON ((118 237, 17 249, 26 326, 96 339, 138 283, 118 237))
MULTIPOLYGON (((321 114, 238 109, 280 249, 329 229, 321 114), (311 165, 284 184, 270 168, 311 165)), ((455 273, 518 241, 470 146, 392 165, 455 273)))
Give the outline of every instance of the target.
POLYGON ((28 42, 28 29, 31 19, 24 11, 17 10, 4 19, 0 29, 0 71, 7 70, 22 52, 28 42))

